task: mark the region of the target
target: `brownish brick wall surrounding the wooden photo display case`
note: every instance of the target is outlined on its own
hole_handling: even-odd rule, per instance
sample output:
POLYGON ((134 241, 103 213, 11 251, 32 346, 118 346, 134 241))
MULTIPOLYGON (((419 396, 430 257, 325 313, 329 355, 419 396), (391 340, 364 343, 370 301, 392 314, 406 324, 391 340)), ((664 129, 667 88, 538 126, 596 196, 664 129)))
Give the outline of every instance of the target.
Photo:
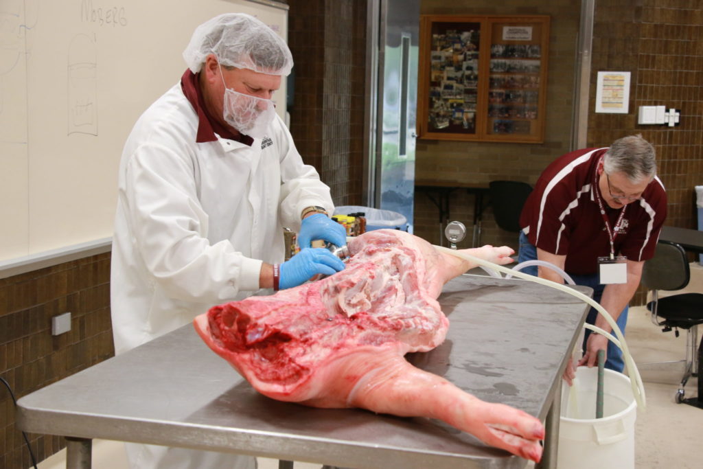
MULTIPOLYGON (((544 143, 480 143, 418 140, 415 178, 465 181, 487 186, 489 181, 511 179, 534 184, 544 167, 569 150, 574 87, 576 33, 579 6, 570 0, 423 0, 424 15, 550 15, 547 120, 544 143)), ((450 219, 470 229, 474 198, 456 191, 450 219)), ((517 233, 498 228, 491 207, 483 214, 482 244, 509 245, 517 250, 517 233)), ((440 242, 439 212, 424 193, 415 194, 415 234, 430 243, 440 242)), ((446 240, 442 236, 442 242, 446 240)), ((459 248, 470 248, 469 234, 459 248)))

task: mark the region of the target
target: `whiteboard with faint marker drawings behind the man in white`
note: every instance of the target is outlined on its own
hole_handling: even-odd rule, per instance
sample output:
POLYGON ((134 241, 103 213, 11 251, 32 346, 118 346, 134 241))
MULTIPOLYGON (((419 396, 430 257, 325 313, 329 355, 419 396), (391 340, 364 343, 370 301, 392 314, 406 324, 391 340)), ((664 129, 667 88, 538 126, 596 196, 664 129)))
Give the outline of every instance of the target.
MULTIPOLYGON (((247 0, 0 1, 0 260, 112 236, 131 127, 179 82, 195 27, 288 6, 247 0)), ((285 80, 273 96, 285 114, 285 80)))

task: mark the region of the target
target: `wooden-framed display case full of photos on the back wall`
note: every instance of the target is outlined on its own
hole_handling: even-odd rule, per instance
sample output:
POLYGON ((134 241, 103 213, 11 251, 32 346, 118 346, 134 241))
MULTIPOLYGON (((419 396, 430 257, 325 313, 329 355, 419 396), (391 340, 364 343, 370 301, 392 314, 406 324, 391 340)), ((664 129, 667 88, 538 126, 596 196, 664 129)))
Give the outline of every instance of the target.
POLYGON ((543 141, 548 16, 422 15, 418 136, 543 141))

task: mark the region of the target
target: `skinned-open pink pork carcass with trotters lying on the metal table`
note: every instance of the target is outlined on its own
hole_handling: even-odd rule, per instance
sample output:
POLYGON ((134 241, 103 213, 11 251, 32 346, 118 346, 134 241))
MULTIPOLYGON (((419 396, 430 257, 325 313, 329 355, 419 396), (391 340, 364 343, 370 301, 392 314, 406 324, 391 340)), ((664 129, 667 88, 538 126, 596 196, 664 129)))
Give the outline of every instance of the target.
MULTIPOLYGON (((467 253, 498 264, 512 249, 467 253)), ((213 307, 195 318, 207 345, 262 394, 323 408, 359 407, 444 420, 486 444, 538 461, 541 422, 409 364, 446 335, 437 297, 472 265, 403 231, 349 242, 347 268, 323 280, 213 307)))

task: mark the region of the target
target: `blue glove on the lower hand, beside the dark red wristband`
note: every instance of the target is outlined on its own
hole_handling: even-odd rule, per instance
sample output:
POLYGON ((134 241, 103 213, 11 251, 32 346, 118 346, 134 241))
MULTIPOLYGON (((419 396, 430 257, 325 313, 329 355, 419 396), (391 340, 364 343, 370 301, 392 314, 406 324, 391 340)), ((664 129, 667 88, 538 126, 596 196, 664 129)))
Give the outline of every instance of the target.
POLYGON ((344 266, 344 262, 328 249, 304 248, 280 264, 278 289, 297 287, 316 274, 332 275, 343 270, 344 266))

